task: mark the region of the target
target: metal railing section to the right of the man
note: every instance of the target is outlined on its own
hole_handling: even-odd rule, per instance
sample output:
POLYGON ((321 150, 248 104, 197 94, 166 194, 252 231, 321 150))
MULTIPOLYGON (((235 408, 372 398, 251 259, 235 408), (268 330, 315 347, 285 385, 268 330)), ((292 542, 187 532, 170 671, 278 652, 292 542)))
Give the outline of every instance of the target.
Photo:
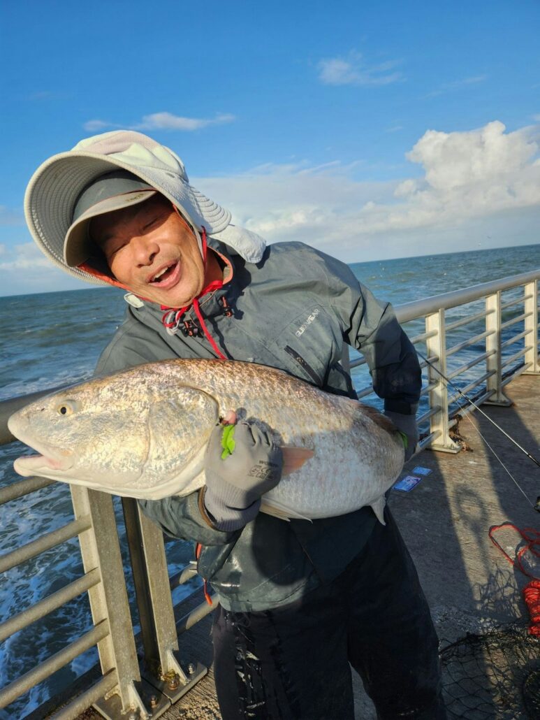
MULTIPOLYGON (((426 433, 420 441, 420 448, 429 446, 433 450, 459 451, 459 445, 449 435, 450 429, 456 425, 459 418, 455 416, 456 408, 453 413, 450 412, 450 408, 462 396, 459 395, 459 392, 452 390, 451 386, 448 387, 438 372, 446 376, 452 384, 457 384, 462 393, 474 398, 477 405, 482 402, 490 405, 509 405, 510 401, 503 392, 505 385, 523 372, 540 374, 539 279, 540 270, 536 270, 454 292, 446 292, 424 300, 408 302, 395 308, 397 319, 402 325, 405 325, 405 329, 407 329, 407 323, 414 320, 423 318, 425 321, 425 331, 410 338, 415 346, 423 344, 425 350, 422 354, 428 360, 428 363, 424 360, 420 362, 420 367, 427 369, 427 381, 422 388, 422 397, 428 396, 428 410, 418 416, 420 428, 426 426, 426 433), (503 293, 507 291, 520 292, 519 297, 513 297, 511 300, 503 302, 503 293), (474 311, 454 322, 447 322, 446 312, 448 310, 457 307, 463 308, 478 301, 483 302, 482 310, 474 311), (515 314, 503 320, 503 312, 505 315, 512 312, 515 314), (484 324, 480 333, 475 332, 471 337, 459 343, 447 345, 446 337, 451 336, 455 330, 462 330, 466 325, 480 322, 484 324), (518 323, 523 323, 523 330, 503 340, 505 330, 518 323), (449 370, 449 358, 456 356, 460 351, 482 343, 482 341, 485 341, 485 349, 482 353, 449 370), (521 343, 521 341, 523 341, 523 347, 508 356, 507 348, 521 343), (510 366, 521 359, 523 359, 521 365, 508 372, 510 366), (472 379, 472 382, 460 384, 460 376, 484 362, 485 372, 472 379), (478 388, 482 388, 482 392, 475 396, 474 391, 478 388)), ((365 359, 357 359, 351 361, 349 366, 354 369, 365 364, 365 359)), ((358 395, 363 399, 372 392, 374 391, 370 385, 361 388, 358 395)), ((459 416, 464 417, 472 410, 474 410, 472 405, 459 408, 459 416)))

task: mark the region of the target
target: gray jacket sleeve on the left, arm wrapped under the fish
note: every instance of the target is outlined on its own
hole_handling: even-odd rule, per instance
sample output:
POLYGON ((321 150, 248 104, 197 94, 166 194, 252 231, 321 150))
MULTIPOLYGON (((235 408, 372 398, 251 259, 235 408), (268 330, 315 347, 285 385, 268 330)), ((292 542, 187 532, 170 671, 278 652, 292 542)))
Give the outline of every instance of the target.
MULTIPOLYGON (((157 335, 153 346, 148 340, 140 342, 136 329, 134 323, 128 322, 117 330, 102 352, 95 374, 107 375, 144 362, 176 357, 170 348, 160 347, 157 335)), ((217 530, 210 525, 210 519, 202 516, 198 496, 199 492, 192 492, 184 497, 173 495, 162 500, 138 500, 138 503, 145 516, 172 537, 194 540, 203 545, 224 545, 235 539, 238 533, 217 530)))

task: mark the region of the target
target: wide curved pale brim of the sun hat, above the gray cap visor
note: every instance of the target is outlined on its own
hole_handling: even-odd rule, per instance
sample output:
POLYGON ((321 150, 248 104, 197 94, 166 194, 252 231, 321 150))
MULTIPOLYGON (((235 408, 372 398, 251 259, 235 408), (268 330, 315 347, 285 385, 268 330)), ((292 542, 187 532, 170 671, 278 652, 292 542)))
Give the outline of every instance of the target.
POLYGON ((155 188, 180 210, 196 231, 204 226, 211 235, 230 223, 230 212, 182 182, 176 174, 84 150, 59 153, 42 163, 30 179, 24 195, 24 215, 40 250, 53 264, 78 279, 106 284, 78 267, 68 265, 64 242, 71 228, 73 208, 83 189, 114 168, 127 170, 155 188))

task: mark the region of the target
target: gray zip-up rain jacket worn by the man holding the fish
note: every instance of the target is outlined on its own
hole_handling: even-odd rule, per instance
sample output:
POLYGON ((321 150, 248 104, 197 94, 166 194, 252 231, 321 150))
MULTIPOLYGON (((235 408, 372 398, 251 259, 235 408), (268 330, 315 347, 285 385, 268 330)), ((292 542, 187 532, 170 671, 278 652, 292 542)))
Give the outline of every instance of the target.
MULTIPOLYGON (((234 269, 222 289, 200 300, 222 354, 356 397, 339 362, 345 342, 364 354, 387 410, 416 412, 421 381, 415 350, 390 304, 376 300, 348 266, 302 243, 271 245, 256 265, 220 243, 210 245, 234 269)), ((182 323, 186 334, 171 336, 158 305, 135 305, 102 353, 97 373, 174 357, 215 357, 193 310, 182 323)), ((273 608, 330 582, 360 552, 376 522, 371 508, 313 522, 285 523, 259 513, 245 528, 226 533, 204 519, 198 493, 139 503, 167 534, 202 544, 199 573, 233 611, 273 608)))

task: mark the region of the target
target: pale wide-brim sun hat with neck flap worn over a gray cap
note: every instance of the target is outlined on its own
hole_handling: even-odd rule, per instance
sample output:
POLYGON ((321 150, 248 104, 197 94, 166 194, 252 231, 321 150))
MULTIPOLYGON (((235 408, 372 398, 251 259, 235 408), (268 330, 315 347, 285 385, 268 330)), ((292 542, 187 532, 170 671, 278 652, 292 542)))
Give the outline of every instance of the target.
POLYGON ((63 271, 94 284, 107 284, 64 256, 66 234, 81 192, 92 181, 116 168, 137 176, 172 202, 190 225, 204 228, 248 262, 258 262, 266 243, 256 233, 230 224, 231 215, 189 183, 179 156, 133 130, 114 130, 77 143, 37 168, 24 196, 24 215, 37 246, 63 271))

